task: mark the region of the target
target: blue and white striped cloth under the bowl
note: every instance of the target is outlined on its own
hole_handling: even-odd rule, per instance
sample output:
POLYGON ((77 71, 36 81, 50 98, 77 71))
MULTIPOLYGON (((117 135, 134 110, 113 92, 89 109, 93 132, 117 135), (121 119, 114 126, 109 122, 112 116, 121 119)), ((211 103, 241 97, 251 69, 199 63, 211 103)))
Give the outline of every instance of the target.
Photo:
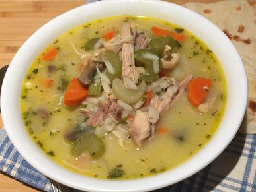
MULTIPOLYGON (((175 185, 157 191, 256 191, 256 135, 237 133, 232 143, 206 168, 175 185)), ((35 170, 0 130, 0 171, 36 187, 53 191, 50 180, 35 170)))

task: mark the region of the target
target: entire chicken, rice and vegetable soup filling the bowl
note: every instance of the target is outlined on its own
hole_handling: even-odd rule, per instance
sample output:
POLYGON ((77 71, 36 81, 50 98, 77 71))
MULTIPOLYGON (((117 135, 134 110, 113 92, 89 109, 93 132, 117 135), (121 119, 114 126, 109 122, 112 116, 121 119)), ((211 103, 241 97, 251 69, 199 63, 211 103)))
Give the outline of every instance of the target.
POLYGON ((132 179, 191 158, 216 131, 226 81, 214 53, 163 20, 116 16, 42 51, 21 92, 24 125, 58 164, 132 179))

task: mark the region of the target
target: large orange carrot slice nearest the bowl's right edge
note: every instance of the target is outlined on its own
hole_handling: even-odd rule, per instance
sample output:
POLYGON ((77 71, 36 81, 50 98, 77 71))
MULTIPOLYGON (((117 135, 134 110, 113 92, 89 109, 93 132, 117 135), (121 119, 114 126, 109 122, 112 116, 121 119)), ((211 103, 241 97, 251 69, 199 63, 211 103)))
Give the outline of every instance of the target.
POLYGON ((208 94, 208 88, 212 86, 212 80, 198 77, 189 82, 187 98, 191 104, 198 106, 208 94))

